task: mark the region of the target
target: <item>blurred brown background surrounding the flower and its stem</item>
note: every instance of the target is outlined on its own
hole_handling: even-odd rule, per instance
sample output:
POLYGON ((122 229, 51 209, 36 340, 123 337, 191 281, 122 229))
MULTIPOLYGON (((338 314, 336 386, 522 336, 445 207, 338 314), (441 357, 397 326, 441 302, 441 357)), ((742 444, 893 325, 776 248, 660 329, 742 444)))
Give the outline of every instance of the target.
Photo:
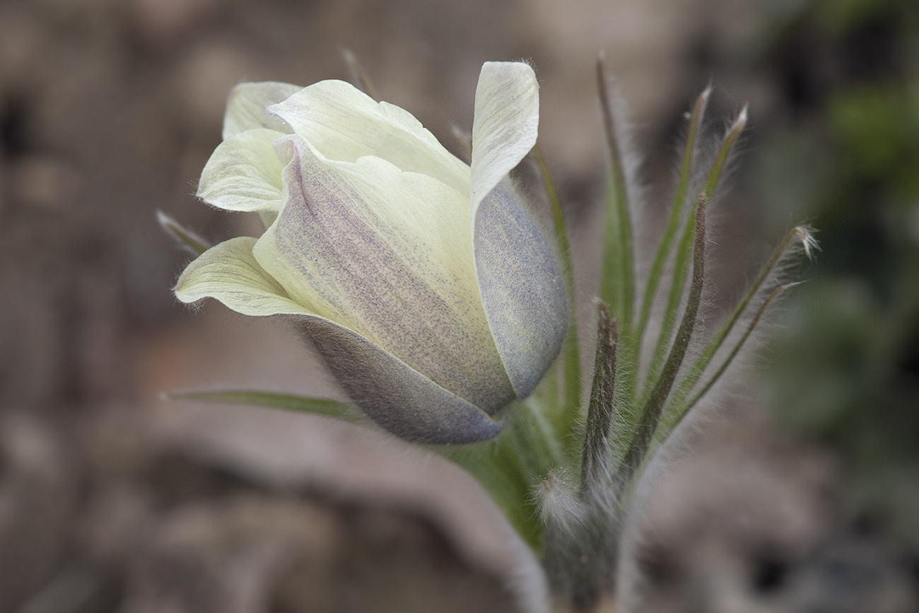
POLYGON ((448 147, 471 127, 482 62, 531 61, 575 227, 602 190, 599 51, 655 207, 694 96, 716 85, 712 131, 749 101, 720 291, 736 295, 802 220, 827 229, 824 272, 808 272, 825 283, 773 353, 798 379, 769 370, 773 392, 743 403, 759 410, 713 428, 652 500, 645 607, 917 610, 915 17, 906 0, 0 1, 0 611, 527 607, 535 562, 444 462, 321 419, 159 399, 339 393, 278 325, 177 304, 187 256, 154 211, 214 241, 255 232, 193 197, 225 96, 242 80, 346 78, 342 49, 448 147), (827 301, 848 309, 831 313, 841 328, 795 332, 817 334, 808 317, 826 321, 827 301), (841 351, 857 375, 796 366, 841 351), (816 383, 818 400, 787 413, 829 409, 803 426, 769 416, 762 399, 791 409, 816 383))

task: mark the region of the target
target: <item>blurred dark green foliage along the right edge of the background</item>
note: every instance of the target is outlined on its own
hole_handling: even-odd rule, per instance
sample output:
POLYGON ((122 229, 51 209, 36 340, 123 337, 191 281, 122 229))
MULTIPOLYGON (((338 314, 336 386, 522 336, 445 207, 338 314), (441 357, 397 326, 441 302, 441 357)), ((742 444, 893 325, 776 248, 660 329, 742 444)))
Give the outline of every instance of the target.
POLYGON ((773 346, 773 406, 838 452, 859 512, 919 544, 919 2, 786 9, 762 190, 823 253, 773 346))

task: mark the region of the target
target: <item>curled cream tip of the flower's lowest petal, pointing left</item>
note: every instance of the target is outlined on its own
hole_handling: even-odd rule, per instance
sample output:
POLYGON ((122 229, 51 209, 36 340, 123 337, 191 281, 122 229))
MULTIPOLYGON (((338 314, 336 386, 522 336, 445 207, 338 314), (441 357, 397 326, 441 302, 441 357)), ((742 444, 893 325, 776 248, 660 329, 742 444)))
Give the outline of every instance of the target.
POLYGON ((210 247, 178 278, 176 298, 187 303, 216 298, 244 315, 309 314, 258 265, 253 245, 255 238, 241 236, 210 247))

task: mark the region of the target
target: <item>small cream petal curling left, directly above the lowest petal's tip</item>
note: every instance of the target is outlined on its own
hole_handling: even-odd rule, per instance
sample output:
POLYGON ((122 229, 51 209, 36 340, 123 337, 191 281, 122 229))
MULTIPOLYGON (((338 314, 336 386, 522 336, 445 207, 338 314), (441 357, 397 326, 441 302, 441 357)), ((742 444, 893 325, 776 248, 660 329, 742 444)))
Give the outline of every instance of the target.
POLYGON ((280 136, 263 128, 221 142, 201 172, 198 197, 226 210, 279 210, 284 165, 271 142, 280 136))

